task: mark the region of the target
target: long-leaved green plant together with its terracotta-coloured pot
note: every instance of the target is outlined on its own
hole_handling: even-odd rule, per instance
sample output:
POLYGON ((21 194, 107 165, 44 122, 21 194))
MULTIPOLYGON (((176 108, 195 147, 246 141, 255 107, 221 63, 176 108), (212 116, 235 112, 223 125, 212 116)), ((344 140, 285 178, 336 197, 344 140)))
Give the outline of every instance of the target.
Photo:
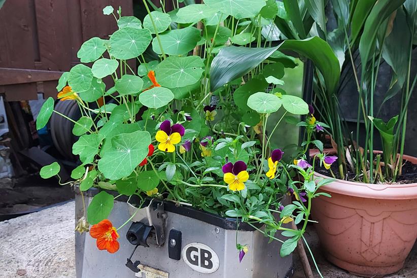
MULTIPOLYGON (((279 23, 299 22, 297 14, 302 11, 294 12, 289 2, 284 4, 287 11, 293 10, 279 23)), ((325 132, 333 146, 332 152, 320 155, 323 168, 315 175, 338 179, 320 189, 331 193, 331 199, 313 201, 321 244, 332 263, 352 273, 380 276, 395 272, 417 238, 413 216, 417 184, 407 178, 415 174, 417 160, 404 155, 407 108, 416 82, 410 75, 415 1, 333 1, 327 15, 323 2, 317 7, 306 2, 303 9, 314 19, 310 33, 327 40, 334 52, 326 65, 327 74, 316 73, 317 113, 311 110, 308 116, 310 123, 317 117, 327 124, 325 132), (326 18, 330 19, 328 24, 326 18), (380 65, 384 63, 391 66, 393 77, 384 99, 377 102, 380 65), (343 78, 339 80, 340 68, 343 78), (352 92, 358 96, 356 130, 349 130, 339 105, 340 92, 349 82, 355 82, 357 89, 352 92), (401 99, 399 115, 386 122, 378 119, 380 108, 375 103, 389 103, 393 97, 401 99), (382 142, 380 151, 374 148, 376 132, 382 142), (331 167, 326 162, 334 162, 334 154, 338 159, 331 167)), ((303 39, 305 25, 294 26, 296 30, 290 30, 303 39)), ((317 59, 312 54, 304 55, 317 59)), ((316 66, 323 69, 318 63, 316 66)))

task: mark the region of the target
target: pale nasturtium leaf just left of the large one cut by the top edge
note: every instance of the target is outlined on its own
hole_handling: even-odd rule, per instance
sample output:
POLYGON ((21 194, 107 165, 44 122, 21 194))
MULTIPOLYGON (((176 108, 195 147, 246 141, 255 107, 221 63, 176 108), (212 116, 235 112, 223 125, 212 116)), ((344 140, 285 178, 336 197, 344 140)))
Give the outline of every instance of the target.
POLYGON ((177 23, 194 23, 203 18, 214 16, 217 9, 205 4, 191 4, 180 8, 177 12, 177 23))

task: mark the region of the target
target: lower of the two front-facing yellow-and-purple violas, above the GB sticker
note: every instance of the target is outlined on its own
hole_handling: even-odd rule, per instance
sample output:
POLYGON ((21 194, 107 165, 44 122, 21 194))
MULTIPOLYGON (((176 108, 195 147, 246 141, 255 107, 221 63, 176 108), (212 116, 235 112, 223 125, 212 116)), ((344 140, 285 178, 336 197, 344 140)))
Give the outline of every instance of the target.
POLYGON ((245 189, 244 183, 249 180, 249 173, 246 169, 246 163, 241 160, 236 161, 234 164, 228 162, 223 165, 223 180, 229 185, 230 190, 240 191, 245 189))

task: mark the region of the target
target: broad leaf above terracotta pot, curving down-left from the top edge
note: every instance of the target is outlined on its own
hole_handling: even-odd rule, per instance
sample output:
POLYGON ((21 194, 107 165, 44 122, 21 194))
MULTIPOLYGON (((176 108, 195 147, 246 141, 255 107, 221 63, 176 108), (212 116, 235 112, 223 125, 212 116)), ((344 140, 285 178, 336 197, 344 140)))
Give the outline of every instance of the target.
POLYGON ((379 27, 404 3, 405 0, 379 0, 375 3, 368 18, 365 21, 361 40, 359 42, 359 53, 362 62, 362 76, 366 72, 366 64, 371 57, 372 48, 375 47, 376 35, 379 27))

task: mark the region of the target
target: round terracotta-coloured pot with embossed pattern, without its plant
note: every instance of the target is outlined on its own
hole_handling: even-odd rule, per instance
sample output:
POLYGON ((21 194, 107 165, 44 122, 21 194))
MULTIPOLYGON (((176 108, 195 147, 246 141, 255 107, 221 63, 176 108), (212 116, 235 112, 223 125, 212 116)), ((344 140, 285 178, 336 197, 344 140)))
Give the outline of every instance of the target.
MULTIPOLYGON (((404 159, 417 164, 415 157, 404 159)), ((375 277, 403 267, 417 238, 417 183, 336 180, 321 190, 332 197, 313 199, 311 211, 330 262, 353 274, 375 277)))

